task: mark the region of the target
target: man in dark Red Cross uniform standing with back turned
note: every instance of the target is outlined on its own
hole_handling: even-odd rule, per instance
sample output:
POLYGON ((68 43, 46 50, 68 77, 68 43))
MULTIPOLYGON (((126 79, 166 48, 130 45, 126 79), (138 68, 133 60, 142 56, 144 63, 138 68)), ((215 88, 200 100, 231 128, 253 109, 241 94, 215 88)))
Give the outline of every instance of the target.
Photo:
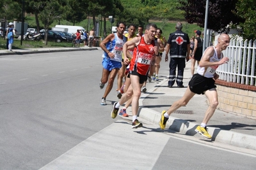
POLYGON ((178 22, 175 26, 176 31, 171 33, 165 48, 165 62, 168 61, 168 54, 170 53, 170 74, 168 87, 173 87, 175 81, 179 88, 183 85, 183 73, 186 61, 189 60, 189 37, 188 34, 182 32, 182 24, 178 22), (176 76, 176 68, 178 67, 178 74, 176 76))

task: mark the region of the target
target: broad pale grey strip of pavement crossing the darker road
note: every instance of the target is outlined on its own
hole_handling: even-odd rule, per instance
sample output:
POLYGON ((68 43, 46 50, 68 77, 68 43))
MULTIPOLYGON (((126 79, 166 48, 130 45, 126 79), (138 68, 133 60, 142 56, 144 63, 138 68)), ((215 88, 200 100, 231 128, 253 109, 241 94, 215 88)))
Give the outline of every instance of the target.
POLYGON ((117 120, 43 169, 152 169, 170 136, 117 120), (125 158, 125 160, 124 160, 125 158))

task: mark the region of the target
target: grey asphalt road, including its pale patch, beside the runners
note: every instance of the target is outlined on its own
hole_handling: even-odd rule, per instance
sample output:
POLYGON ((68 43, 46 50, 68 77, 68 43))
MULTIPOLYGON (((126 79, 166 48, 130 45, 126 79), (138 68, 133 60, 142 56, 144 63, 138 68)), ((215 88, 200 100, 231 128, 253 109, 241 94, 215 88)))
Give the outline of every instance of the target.
POLYGON ((101 55, 1 56, 0 169, 255 169, 255 156, 110 118, 116 86, 100 106, 101 55))

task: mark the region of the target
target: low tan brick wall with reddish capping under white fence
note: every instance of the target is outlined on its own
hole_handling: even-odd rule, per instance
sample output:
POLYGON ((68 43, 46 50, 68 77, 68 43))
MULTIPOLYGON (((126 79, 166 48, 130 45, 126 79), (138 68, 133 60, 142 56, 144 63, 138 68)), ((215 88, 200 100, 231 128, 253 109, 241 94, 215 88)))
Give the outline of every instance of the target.
POLYGON ((216 80, 218 109, 256 120, 256 87, 216 80))

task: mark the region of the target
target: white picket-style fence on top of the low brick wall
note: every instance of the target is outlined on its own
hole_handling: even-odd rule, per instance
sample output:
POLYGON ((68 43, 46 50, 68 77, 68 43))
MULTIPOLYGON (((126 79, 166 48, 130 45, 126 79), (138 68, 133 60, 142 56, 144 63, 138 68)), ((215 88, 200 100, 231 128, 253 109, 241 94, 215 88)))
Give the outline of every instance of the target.
POLYGON ((255 70, 256 40, 231 39, 223 55, 229 58, 228 64, 218 67, 220 80, 256 86, 255 70))

